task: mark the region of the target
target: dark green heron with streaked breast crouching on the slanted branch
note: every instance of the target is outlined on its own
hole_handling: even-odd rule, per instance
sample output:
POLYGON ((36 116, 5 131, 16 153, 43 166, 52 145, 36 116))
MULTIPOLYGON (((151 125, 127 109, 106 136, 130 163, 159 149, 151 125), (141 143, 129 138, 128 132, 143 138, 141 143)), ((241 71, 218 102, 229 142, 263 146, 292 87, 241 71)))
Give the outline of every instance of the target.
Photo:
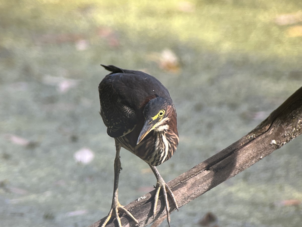
POLYGON ((101 117, 107 133, 115 140, 114 189, 111 210, 101 225, 104 227, 115 216, 121 227, 118 211, 123 211, 137 224, 133 215, 118 202, 117 187, 120 164, 120 147, 124 147, 149 164, 156 176, 156 193, 153 217, 159 191, 165 199, 167 221, 170 226, 168 194, 176 209, 176 199, 155 166, 170 159, 178 145, 176 109, 169 91, 155 77, 141 71, 121 69, 113 65, 101 65, 111 71, 99 84, 101 117))

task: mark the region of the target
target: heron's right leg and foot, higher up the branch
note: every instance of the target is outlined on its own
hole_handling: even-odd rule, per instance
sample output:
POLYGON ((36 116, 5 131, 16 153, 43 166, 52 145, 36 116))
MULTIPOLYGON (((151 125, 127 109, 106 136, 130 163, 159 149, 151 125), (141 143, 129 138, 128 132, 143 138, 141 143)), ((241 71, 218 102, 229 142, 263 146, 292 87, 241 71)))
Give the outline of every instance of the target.
POLYGON ((151 166, 150 164, 149 164, 149 166, 152 169, 152 171, 153 171, 153 173, 154 173, 154 175, 156 176, 156 179, 157 179, 156 192, 155 192, 155 197, 154 197, 153 217, 155 217, 155 215, 156 215, 156 207, 157 207, 157 201, 158 201, 158 196, 159 196, 159 190, 162 189, 162 193, 163 193, 164 198, 165 198, 165 208, 166 208, 166 212, 167 212, 167 221, 168 221, 168 225, 170 226, 170 213, 169 213, 170 207, 169 207, 167 192, 171 196, 171 198, 173 200, 173 203, 174 203, 176 209, 178 210, 178 205, 177 205, 176 199, 174 197, 173 192, 169 188, 169 186, 165 183, 164 179, 162 179, 162 176, 160 176, 160 174, 159 174, 158 170, 156 169, 156 167, 151 166))

